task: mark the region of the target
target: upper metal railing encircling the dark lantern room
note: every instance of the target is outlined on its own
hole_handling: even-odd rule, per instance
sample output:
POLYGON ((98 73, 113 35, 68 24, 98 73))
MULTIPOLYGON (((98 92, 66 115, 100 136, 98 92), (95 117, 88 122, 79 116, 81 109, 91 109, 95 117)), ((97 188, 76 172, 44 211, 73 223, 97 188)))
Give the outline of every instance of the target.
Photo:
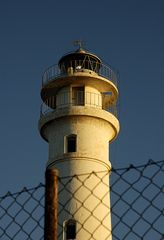
POLYGON ((117 86, 117 74, 110 66, 89 60, 72 60, 61 64, 60 67, 57 64, 49 67, 43 74, 42 86, 45 86, 56 78, 73 75, 77 72, 97 74, 110 80, 117 86))

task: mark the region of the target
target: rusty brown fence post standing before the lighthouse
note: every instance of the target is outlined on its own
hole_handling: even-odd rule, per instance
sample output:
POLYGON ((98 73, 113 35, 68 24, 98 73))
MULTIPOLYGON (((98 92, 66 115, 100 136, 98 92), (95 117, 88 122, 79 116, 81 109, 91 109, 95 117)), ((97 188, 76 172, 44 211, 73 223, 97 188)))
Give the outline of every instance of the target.
POLYGON ((45 178, 44 240, 57 240, 58 171, 47 169, 45 178))

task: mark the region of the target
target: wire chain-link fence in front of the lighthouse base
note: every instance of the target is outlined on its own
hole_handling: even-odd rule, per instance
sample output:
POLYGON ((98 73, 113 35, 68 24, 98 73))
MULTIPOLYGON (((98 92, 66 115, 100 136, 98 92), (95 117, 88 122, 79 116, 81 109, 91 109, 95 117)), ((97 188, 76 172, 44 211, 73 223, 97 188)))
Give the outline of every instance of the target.
MULTIPOLYGON (((112 239, 113 240, 162 240, 164 239, 164 194, 163 169, 164 161, 149 161, 142 166, 130 165, 127 168, 112 169, 110 177, 112 239)), ((61 178, 59 176, 59 200, 62 194, 68 192, 65 202, 58 203, 58 215, 69 214, 69 204, 76 200, 76 209, 70 217, 76 217, 81 208, 87 212, 85 219, 79 225, 78 231, 85 231, 88 239, 95 239, 91 229, 87 228, 87 221, 94 218, 95 232, 103 231, 103 239, 108 239, 108 229, 105 217, 99 218, 99 206, 103 204, 108 212, 105 193, 100 199, 96 192, 99 186, 106 184, 104 179, 109 173, 92 172, 80 176, 61 178), (95 181, 93 181, 95 179, 95 181), (90 189, 89 181, 96 182, 90 189), (75 192, 70 191, 71 182, 78 182, 75 192), (85 188, 83 198, 78 191, 85 188), (90 202, 90 203, 89 203, 90 202), (91 204, 91 203, 94 204, 91 204), (63 204, 64 203, 64 204, 63 204), (88 206, 91 206, 90 208, 88 206), (104 237, 104 235, 106 236, 104 237)), ((108 185, 107 185, 108 186, 108 185)), ((17 193, 8 192, 0 197, 0 239, 2 240, 40 240, 44 239, 44 184, 17 193)), ((108 216, 108 213, 107 213, 108 216)), ((58 223, 58 239, 62 239, 63 226, 58 223)))

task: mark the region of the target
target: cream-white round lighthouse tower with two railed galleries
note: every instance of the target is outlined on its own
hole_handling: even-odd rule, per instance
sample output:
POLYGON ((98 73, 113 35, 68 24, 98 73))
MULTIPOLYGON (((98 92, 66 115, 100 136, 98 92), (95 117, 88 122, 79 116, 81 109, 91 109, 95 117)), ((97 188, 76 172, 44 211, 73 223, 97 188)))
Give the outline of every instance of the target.
POLYGON ((80 180, 59 195, 58 239, 111 240, 109 143, 119 132, 117 76, 79 46, 45 71, 41 98, 47 168, 80 180))

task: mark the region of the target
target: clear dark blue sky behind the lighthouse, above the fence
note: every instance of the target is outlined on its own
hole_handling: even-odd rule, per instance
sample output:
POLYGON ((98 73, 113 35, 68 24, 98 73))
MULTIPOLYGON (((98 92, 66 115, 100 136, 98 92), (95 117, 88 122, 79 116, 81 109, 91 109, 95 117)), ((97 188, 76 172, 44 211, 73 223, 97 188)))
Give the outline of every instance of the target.
POLYGON ((1 0, 0 195, 44 180, 41 77, 76 39, 120 73, 113 166, 164 158, 163 13, 163 0, 1 0))

